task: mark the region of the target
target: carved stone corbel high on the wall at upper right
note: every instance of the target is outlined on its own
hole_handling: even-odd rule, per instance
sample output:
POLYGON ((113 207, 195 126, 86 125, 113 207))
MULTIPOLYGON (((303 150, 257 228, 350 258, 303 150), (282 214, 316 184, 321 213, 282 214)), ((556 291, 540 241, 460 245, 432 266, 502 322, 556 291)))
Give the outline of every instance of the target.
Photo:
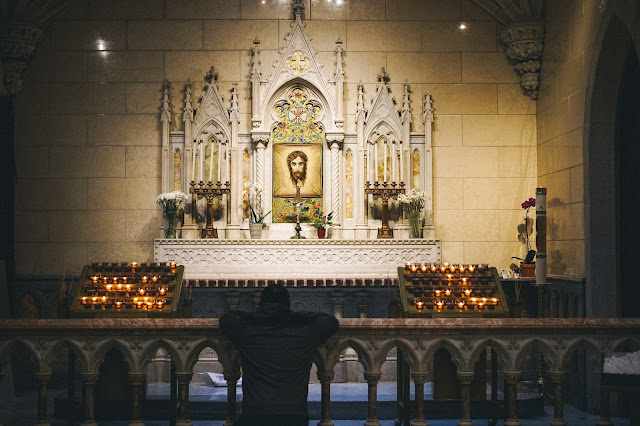
POLYGON ((540 85, 540 60, 544 49, 544 24, 542 22, 514 23, 502 30, 500 41, 505 45, 505 55, 520 75, 520 87, 531 99, 538 98, 540 85))

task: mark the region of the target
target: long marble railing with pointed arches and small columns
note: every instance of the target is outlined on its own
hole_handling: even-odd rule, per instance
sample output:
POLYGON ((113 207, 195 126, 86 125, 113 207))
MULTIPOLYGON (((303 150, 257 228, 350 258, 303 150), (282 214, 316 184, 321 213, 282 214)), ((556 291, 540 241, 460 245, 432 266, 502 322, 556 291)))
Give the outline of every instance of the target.
MULTIPOLYGON (((621 347, 640 345, 640 319, 341 319, 338 333, 318 350, 315 364, 321 383, 321 420, 332 425, 331 380, 340 354, 355 350, 368 383, 366 425, 379 425, 377 384, 382 364, 392 348, 403 352, 411 368, 415 395, 424 395, 435 352, 451 354, 461 384, 460 423, 471 425, 470 385, 474 366, 487 347, 497 355, 498 369, 506 381, 505 405, 508 425, 519 425, 516 414, 517 384, 528 354, 544 354, 547 376, 554 388, 554 425, 563 419, 563 383, 571 354, 586 349, 595 356, 621 347)), ((118 350, 129 368, 133 395, 131 424, 143 424, 141 401, 147 364, 159 348, 171 357, 178 386, 177 424, 188 425, 189 382, 200 352, 210 347, 218 354, 227 388, 227 421, 236 413, 235 382, 240 376, 237 352, 224 339, 217 319, 93 319, 93 320, 0 320, 0 362, 3 369, 12 354, 26 351, 35 364, 38 383, 38 424, 47 424, 47 383, 52 366, 68 352, 75 354, 82 369, 85 425, 96 424, 95 384, 107 352, 118 350)), ((0 373, 0 381, 5 371, 0 373)), ((426 425, 423 397, 416 398, 413 425, 426 425)), ((601 419, 607 424, 607 419, 601 419)))

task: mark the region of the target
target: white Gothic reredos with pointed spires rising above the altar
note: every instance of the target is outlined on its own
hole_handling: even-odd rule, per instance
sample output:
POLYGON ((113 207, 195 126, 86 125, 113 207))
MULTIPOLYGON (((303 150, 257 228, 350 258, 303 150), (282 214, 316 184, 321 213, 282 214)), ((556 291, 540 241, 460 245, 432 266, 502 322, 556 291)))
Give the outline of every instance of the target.
MULTIPOLYGON (((356 132, 346 133, 344 79, 348 63, 343 58, 342 41, 336 41, 334 69, 323 68, 305 34, 302 16, 302 2, 295 1, 291 31, 268 76, 260 61, 260 42, 253 43, 250 133, 239 132, 237 89, 231 90, 230 101, 225 103, 218 91, 214 67, 205 76, 201 94, 192 93, 191 82, 186 82, 181 108, 184 131, 169 131, 172 106, 165 83, 161 113, 162 192, 179 190, 190 194, 191 182, 223 187, 228 182, 229 193, 214 197, 213 206, 211 202, 209 205, 220 243, 225 243, 214 246, 244 247, 251 243, 246 241, 249 208, 244 190, 257 183, 263 189, 264 213, 272 212, 265 219, 263 238, 278 240, 282 245, 295 235, 294 197, 298 182, 304 203, 300 222, 302 235, 307 238, 305 244, 313 245, 316 238, 315 229, 308 222, 333 212, 329 237, 340 240, 342 249, 364 243, 370 249, 371 244, 376 244, 372 240, 381 227, 382 203, 365 194, 365 186, 375 183, 380 187, 400 187, 402 183, 407 190, 415 188, 428 196, 423 212, 423 240, 419 244, 421 256, 426 255, 425 240, 431 245, 431 254, 426 258, 417 258, 418 252, 406 252, 406 260, 439 261, 439 241, 434 239, 432 221, 431 96, 427 94, 422 100, 425 132, 412 132, 410 87, 404 84, 403 93, 399 94, 402 103, 397 108, 388 86, 390 77, 383 68, 375 93, 365 93, 364 86, 358 84, 356 110, 348 112, 350 117, 355 116, 356 132), (366 97, 370 97, 368 108, 366 97), (292 159, 302 161, 302 176, 292 170, 292 159)), ((394 243, 411 251, 416 240, 407 240, 410 226, 403 217, 402 205, 393 198, 388 205, 394 243)), ((182 238, 156 240, 156 260, 184 263, 180 250, 190 250, 193 259, 197 247, 210 249, 212 241, 201 239, 207 213, 206 200, 196 200, 194 196, 192 202, 187 202, 182 238), (172 259, 167 258, 167 244, 171 244, 172 259)), ((218 263, 215 256, 209 257, 205 252, 200 254, 203 263, 218 263)), ((397 263, 389 265, 390 270, 396 266, 397 263)), ((189 274, 188 267, 186 273, 189 274)))

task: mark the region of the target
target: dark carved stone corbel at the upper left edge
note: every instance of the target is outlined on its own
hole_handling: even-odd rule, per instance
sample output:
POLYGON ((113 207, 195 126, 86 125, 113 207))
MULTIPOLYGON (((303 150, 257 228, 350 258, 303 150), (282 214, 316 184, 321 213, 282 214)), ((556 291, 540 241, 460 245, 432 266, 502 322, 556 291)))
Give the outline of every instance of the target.
POLYGON ((4 22, 0 26, 0 50, 2 50, 2 72, 4 87, 0 95, 16 95, 22 90, 22 72, 27 68, 42 30, 35 25, 4 22))

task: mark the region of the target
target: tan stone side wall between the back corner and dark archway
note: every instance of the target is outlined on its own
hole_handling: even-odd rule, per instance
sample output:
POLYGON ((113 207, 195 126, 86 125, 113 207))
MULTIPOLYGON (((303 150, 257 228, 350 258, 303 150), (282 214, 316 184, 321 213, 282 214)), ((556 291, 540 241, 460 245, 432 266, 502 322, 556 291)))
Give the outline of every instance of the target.
POLYGON ((585 273, 585 94, 604 2, 546 2, 538 97, 538 184, 547 189, 548 264, 585 273))

